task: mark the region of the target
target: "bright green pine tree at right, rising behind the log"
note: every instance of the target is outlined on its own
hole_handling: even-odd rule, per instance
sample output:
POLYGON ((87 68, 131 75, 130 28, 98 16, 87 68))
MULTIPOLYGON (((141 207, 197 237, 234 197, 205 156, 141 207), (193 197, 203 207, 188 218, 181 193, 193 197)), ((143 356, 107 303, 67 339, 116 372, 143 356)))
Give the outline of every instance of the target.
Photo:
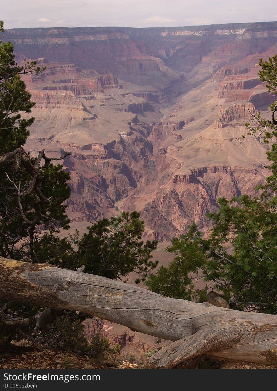
MULTIPOLYGON (((261 80, 277 95, 277 56, 261 59, 260 65, 261 80)), ((271 120, 258 113, 251 125, 246 124, 249 135, 271 144, 266 152, 271 175, 257 188, 259 195, 219 199, 219 211, 209 214, 208 237, 192 225, 187 235, 173 239, 167 251, 175 255, 174 260, 147 279, 154 292, 205 301, 205 289, 193 287, 192 273, 198 273, 233 308, 277 314, 277 100, 270 109, 271 120)))

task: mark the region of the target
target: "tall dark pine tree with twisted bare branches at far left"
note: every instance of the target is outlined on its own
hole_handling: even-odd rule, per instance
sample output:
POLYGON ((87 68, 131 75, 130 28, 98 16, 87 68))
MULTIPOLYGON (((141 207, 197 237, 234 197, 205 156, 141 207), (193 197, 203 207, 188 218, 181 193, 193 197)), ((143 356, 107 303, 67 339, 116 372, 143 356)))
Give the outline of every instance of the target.
MULTIPOLYGON (((3 22, 0 29, 4 32, 3 22)), ((23 149, 35 118, 22 113, 30 113, 35 102, 20 75, 40 75, 44 69, 36 61, 18 65, 13 44, 0 41, 0 254, 31 261, 44 230, 69 227, 64 204, 69 174, 47 160, 44 151, 32 158, 23 149)))

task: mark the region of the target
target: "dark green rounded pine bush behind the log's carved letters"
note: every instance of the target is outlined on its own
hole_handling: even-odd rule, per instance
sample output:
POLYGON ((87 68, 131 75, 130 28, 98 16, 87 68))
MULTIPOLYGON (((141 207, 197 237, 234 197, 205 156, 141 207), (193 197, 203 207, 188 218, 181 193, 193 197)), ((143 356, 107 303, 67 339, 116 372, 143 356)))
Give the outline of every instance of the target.
POLYGON ((112 279, 126 278, 135 270, 144 280, 158 263, 150 260, 158 242, 143 243, 144 222, 139 217, 137 212, 122 212, 119 217, 103 219, 88 227, 88 233, 79 241, 79 265, 84 264, 87 273, 112 279))

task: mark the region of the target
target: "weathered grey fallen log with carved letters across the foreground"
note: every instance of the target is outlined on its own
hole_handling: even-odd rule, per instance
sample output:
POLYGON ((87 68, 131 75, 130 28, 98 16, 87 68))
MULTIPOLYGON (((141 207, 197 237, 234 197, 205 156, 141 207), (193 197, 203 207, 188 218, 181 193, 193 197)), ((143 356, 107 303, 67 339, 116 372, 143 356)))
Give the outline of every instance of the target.
POLYGON ((275 315, 171 299, 137 286, 48 264, 0 257, 0 298, 78 310, 176 341, 153 357, 158 368, 173 368, 201 354, 266 363, 276 352, 275 315))

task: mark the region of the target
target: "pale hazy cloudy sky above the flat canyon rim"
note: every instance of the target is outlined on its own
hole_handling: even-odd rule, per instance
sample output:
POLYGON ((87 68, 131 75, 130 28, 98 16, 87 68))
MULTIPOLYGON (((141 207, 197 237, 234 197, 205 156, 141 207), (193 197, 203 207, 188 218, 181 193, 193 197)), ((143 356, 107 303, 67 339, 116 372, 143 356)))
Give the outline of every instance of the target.
MULTIPOLYGON (((4 2, 4 0, 2 0, 4 2)), ((5 29, 173 27, 277 21, 276 0, 5 0, 5 29)))

